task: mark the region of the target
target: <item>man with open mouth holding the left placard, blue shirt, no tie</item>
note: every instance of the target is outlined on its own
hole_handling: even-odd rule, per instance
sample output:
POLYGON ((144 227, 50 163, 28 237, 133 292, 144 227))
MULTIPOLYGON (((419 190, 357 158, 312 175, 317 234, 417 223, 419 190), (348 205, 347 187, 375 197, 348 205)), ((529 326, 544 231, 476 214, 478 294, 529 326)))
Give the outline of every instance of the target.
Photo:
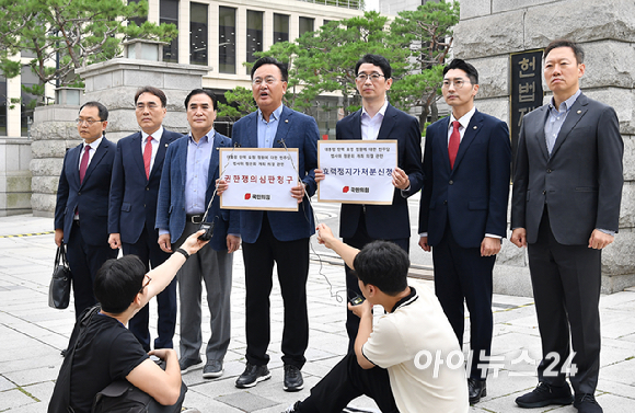
MULTIPOLYGON (((298 148, 298 185, 289 196, 298 199, 298 211, 240 211, 246 284, 246 366, 235 386, 247 388, 272 377, 267 369, 270 336, 269 295, 274 263, 285 301, 282 362, 286 391, 303 388, 300 369, 307 360, 309 318, 307 278, 309 239, 315 232, 313 209, 305 195, 315 193, 318 167, 315 119, 282 105, 287 67, 274 58, 257 60, 252 68, 252 91, 258 110, 236 122, 232 141, 243 148, 298 148)), ((227 187, 227 184, 224 184, 227 187)))

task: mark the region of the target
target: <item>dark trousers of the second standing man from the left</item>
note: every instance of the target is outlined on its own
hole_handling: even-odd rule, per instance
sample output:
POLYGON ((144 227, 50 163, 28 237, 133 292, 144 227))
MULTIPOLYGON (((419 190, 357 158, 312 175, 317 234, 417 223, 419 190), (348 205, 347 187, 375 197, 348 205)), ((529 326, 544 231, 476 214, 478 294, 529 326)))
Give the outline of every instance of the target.
MULTIPOLYGON (((146 228, 141 231, 136 243, 122 243, 124 255, 137 255, 146 265, 147 272, 150 271, 150 265, 152 268, 157 268, 170 257, 169 253, 159 248, 158 239, 158 231, 154 228, 149 228, 146 223, 146 228)), ((157 305, 159 314, 157 332, 159 336, 154 339, 154 348, 174 348, 172 339, 176 328, 176 277, 157 296, 157 305)), ((128 329, 135 334, 146 352, 150 351, 149 322, 150 306, 145 306, 128 322, 128 329)))

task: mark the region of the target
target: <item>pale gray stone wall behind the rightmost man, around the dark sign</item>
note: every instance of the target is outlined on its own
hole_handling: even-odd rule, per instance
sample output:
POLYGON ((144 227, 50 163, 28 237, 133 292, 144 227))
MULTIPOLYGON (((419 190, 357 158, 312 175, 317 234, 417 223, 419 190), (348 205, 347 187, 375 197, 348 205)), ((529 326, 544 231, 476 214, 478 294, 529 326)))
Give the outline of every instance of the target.
MULTIPOLYGON (((620 232, 602 252, 602 290, 635 285, 635 8, 623 0, 461 0, 454 56, 481 74, 476 106, 509 123, 509 54, 566 37, 586 53, 580 85, 615 108, 624 139, 620 232)), ((545 102, 551 99, 544 87, 545 102)), ((526 250, 509 241, 495 266, 495 291, 531 296, 526 250)))

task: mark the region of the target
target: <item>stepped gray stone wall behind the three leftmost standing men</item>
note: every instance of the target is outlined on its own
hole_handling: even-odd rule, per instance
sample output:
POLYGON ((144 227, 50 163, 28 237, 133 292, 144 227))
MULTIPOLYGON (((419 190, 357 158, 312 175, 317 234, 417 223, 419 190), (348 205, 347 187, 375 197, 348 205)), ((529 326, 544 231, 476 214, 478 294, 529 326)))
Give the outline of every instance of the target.
MULTIPOLYGON (((117 58, 78 70, 85 81, 81 103, 97 101, 108 108, 106 136, 112 141, 139 130, 135 116, 135 93, 153 85, 168 96, 163 126, 188 130, 184 101, 190 90, 200 88, 205 66, 189 66, 117 58)), ((80 106, 55 104, 35 110, 30 169, 33 174, 31 206, 34 216, 53 217, 57 186, 66 151, 81 142, 74 119, 80 106)))

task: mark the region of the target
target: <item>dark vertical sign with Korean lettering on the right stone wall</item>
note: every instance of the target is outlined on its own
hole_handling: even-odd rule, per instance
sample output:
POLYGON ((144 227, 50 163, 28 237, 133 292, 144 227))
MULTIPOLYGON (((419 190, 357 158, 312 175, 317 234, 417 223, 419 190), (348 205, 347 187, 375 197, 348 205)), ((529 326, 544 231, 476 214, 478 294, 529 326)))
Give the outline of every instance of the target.
POLYGON ((511 54, 510 59, 510 123, 511 150, 516 158, 522 117, 542 106, 542 49, 511 54))

